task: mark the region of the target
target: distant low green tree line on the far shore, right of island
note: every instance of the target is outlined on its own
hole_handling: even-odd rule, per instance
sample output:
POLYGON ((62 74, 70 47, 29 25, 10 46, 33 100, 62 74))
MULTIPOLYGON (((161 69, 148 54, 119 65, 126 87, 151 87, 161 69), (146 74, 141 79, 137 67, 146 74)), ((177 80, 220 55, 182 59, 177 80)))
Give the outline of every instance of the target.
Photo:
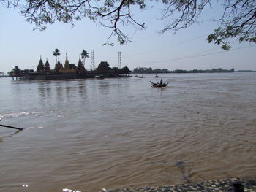
POLYGON ((201 70, 201 69, 193 69, 193 70, 182 70, 182 69, 176 69, 173 71, 169 71, 168 69, 152 69, 151 67, 146 68, 146 67, 139 67, 133 69, 132 73, 136 74, 158 74, 158 73, 217 73, 217 72, 235 72, 235 69, 206 69, 206 70, 201 70))

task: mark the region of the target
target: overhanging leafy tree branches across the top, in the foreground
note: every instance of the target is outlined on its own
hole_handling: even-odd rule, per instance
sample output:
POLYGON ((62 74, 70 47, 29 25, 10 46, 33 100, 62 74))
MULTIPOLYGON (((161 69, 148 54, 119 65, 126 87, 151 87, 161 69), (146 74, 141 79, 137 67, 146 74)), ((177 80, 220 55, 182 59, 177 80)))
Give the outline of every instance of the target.
MULTIPOLYGON (((46 25, 55 22, 75 24, 76 20, 89 18, 107 28, 112 28, 111 36, 116 36, 120 44, 131 41, 125 34, 123 26, 146 28, 146 24, 135 19, 136 8, 140 10, 152 9, 152 1, 105 0, 105 1, 41 1, 41 0, 1 0, 1 4, 8 8, 20 9, 30 23, 34 23, 39 30, 45 30, 46 25)), ((256 1, 255 0, 154 0, 160 4, 158 19, 165 20, 167 26, 159 29, 159 34, 166 31, 178 31, 194 23, 200 23, 200 15, 206 8, 222 7, 222 12, 215 12, 212 19, 218 28, 208 35, 208 42, 222 45, 222 49, 229 50, 229 40, 236 37, 239 42, 256 42, 256 1)), ((140 18, 140 17, 138 17, 140 18)), ((110 38, 109 37, 109 38, 110 38)), ((108 38, 108 39, 109 39, 108 38)), ((111 44, 110 44, 111 45, 111 44)))

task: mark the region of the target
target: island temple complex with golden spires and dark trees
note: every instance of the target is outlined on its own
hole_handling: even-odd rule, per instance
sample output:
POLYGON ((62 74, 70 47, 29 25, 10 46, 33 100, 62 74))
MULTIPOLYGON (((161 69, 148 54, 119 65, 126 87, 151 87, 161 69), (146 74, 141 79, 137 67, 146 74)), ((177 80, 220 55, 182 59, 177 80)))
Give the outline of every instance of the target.
POLYGON ((69 60, 67 58, 64 66, 58 60, 55 64, 55 68, 50 69, 50 64, 48 61, 43 64, 42 58, 39 59, 39 64, 37 66, 37 72, 34 70, 20 70, 18 66, 15 66, 11 72, 9 72, 9 76, 12 79, 16 80, 62 80, 62 79, 85 79, 85 78, 94 78, 97 77, 126 77, 131 71, 127 66, 122 69, 110 68, 107 61, 100 62, 97 70, 87 71, 83 67, 83 63, 81 58, 78 60, 78 66, 75 64, 69 64, 69 60))

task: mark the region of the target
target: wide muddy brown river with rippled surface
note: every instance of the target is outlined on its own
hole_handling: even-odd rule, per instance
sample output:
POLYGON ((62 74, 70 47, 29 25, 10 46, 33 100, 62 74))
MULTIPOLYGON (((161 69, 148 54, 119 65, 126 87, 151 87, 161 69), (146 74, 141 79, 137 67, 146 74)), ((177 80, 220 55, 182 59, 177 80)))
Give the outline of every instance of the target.
POLYGON ((256 73, 0 78, 0 191, 99 191, 256 174, 256 73))

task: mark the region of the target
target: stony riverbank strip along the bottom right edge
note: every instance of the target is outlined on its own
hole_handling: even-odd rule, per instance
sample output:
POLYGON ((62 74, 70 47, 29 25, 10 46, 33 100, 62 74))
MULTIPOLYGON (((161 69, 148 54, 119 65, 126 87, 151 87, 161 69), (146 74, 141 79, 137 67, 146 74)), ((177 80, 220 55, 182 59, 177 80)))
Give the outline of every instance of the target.
MULTIPOLYGON (((256 175, 249 177, 239 177, 239 178, 228 178, 224 180, 209 180, 199 183, 184 183, 176 185, 164 185, 159 187, 143 187, 143 188, 123 188, 116 190, 106 190, 108 192, 232 192, 233 183, 238 183, 244 185, 245 192, 255 192, 256 191, 256 175)), ((102 189, 105 191, 105 189, 102 189)), ((102 192, 99 191, 99 192, 102 192)))

